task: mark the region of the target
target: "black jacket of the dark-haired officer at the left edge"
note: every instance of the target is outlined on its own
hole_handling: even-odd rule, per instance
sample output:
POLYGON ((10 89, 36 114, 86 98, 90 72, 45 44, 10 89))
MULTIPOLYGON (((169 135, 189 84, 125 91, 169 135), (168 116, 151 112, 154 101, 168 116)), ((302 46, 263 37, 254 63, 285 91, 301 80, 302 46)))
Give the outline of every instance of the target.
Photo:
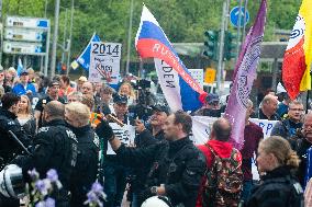
POLYGON ((8 110, 0 108, 0 169, 1 165, 8 164, 13 154, 22 152, 21 146, 9 134, 11 130, 19 140, 25 146, 30 146, 30 139, 22 130, 21 125, 16 120, 16 116, 8 110))

